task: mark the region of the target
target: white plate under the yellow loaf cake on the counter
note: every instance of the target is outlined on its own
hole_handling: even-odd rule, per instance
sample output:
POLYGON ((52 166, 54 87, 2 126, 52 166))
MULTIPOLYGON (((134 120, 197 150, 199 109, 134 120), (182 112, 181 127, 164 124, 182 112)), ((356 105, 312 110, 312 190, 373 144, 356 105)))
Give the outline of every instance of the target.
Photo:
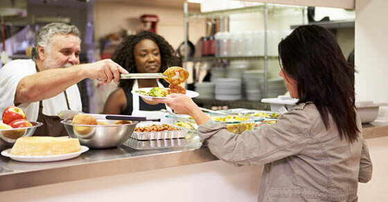
POLYGON ((13 160, 19 160, 24 162, 48 162, 48 161, 56 161, 56 160, 65 160, 69 158, 76 158, 80 156, 80 154, 87 152, 89 147, 81 145, 81 151, 73 152, 70 154, 59 154, 59 155, 49 155, 49 156, 17 156, 10 154, 11 149, 6 149, 1 152, 1 155, 7 156, 13 160))

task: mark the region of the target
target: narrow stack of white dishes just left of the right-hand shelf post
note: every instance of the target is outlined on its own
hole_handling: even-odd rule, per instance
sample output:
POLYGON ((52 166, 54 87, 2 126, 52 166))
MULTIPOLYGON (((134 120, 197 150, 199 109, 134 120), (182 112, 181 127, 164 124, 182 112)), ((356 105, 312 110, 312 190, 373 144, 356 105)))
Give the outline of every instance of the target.
POLYGON ((261 100, 261 83, 264 80, 264 71, 248 70, 243 72, 244 93, 247 100, 261 100))

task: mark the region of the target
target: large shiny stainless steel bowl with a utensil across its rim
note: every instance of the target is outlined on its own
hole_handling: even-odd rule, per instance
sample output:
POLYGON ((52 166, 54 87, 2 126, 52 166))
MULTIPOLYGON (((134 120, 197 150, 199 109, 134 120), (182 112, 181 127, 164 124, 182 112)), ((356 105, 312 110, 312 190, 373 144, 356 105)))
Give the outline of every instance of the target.
POLYGON ((109 125, 73 125, 71 120, 62 120, 61 123, 71 138, 78 138, 81 145, 95 149, 112 148, 123 144, 137 124, 132 121, 131 124, 113 125, 116 120, 102 121, 109 125))

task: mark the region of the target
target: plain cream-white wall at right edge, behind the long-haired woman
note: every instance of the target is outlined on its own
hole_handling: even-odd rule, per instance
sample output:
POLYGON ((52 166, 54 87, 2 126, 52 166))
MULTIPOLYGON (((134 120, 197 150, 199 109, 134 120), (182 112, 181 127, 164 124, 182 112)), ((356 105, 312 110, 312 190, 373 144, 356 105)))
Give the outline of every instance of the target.
MULTIPOLYGON (((355 4, 355 92, 360 100, 388 102, 388 1, 358 0, 355 4)), ((379 116, 388 120, 388 107, 379 116)))

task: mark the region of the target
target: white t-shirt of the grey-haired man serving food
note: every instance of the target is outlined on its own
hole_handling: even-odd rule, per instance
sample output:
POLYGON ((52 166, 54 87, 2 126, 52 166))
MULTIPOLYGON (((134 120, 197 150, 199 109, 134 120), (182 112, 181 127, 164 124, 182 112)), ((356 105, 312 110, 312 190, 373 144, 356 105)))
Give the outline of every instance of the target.
MULTIPOLYGON (((14 106, 15 93, 19 81, 27 76, 37 73, 35 62, 32 59, 16 59, 8 62, 0 68, 0 114, 9 106, 14 106)), ((82 111, 80 91, 77 84, 66 89, 70 109, 82 111)), ((64 93, 59 93, 53 98, 42 101, 43 113, 48 116, 57 116, 58 112, 67 110, 64 93)), ((29 102, 19 104, 17 107, 26 112, 27 120, 36 121, 39 113, 39 102, 29 102)))

